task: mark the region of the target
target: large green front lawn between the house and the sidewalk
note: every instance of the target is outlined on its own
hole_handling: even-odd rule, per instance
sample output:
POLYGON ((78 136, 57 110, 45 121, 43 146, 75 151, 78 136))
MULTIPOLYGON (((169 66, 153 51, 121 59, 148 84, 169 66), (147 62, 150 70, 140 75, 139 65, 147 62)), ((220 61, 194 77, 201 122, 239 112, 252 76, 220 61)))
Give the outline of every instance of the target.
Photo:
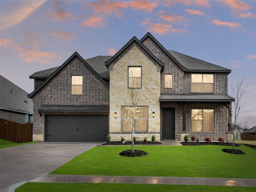
POLYGON ((148 155, 124 157, 131 146, 94 147, 51 174, 256 178, 256 150, 236 147, 246 154, 222 152, 229 146, 134 146, 148 155))

